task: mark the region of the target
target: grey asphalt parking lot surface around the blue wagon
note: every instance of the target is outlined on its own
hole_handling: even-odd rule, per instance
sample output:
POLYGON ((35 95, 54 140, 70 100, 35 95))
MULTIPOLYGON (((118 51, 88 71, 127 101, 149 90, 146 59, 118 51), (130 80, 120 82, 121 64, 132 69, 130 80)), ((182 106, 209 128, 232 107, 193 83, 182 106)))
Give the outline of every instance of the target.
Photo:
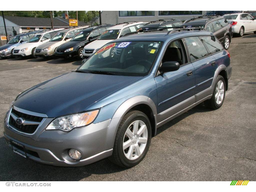
POLYGON ((18 93, 76 69, 81 60, 0 59, 1 181, 256 180, 256 34, 231 39, 232 77, 218 110, 200 104, 161 126, 145 159, 124 169, 108 159, 83 167, 54 167, 14 154, 3 119, 18 93))

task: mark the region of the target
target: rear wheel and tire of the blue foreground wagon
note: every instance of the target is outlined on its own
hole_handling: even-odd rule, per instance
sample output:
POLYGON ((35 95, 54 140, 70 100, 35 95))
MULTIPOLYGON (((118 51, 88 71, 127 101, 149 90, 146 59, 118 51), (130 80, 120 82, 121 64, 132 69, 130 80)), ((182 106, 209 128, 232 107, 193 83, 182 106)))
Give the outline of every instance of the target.
POLYGON ((205 101, 205 105, 208 106, 210 109, 219 109, 224 102, 225 94, 225 79, 221 75, 218 75, 212 97, 211 99, 205 101))

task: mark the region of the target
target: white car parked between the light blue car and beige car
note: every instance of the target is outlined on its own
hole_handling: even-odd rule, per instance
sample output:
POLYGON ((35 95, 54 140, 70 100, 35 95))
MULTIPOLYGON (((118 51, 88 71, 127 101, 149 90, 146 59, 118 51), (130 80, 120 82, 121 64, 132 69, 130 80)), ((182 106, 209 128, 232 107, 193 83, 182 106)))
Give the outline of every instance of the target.
POLYGON ((48 42, 51 39, 51 37, 53 37, 58 31, 63 29, 64 28, 45 30, 37 33, 36 35, 31 37, 26 43, 23 43, 15 47, 13 50, 12 56, 13 57, 33 56, 35 58, 36 47, 48 42))

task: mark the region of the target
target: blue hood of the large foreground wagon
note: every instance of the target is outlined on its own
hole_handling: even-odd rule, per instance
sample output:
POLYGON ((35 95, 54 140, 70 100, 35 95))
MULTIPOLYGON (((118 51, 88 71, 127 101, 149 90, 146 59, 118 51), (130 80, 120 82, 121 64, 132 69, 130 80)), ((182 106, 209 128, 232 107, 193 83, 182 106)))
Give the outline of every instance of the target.
POLYGON ((85 111, 93 103, 140 78, 69 72, 24 91, 14 105, 55 118, 85 111))

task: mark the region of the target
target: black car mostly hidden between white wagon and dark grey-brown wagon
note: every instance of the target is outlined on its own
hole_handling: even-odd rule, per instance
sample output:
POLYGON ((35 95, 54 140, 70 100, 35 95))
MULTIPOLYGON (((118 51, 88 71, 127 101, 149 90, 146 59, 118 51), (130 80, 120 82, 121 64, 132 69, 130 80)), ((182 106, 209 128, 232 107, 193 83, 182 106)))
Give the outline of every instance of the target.
MULTIPOLYGON (((152 21, 150 23, 147 23, 142 28, 138 30, 147 30, 147 29, 158 29, 162 27, 179 27, 182 25, 182 21, 179 19, 159 19, 157 21, 152 21)), ((166 29, 166 30, 172 30, 172 28, 166 29)))

